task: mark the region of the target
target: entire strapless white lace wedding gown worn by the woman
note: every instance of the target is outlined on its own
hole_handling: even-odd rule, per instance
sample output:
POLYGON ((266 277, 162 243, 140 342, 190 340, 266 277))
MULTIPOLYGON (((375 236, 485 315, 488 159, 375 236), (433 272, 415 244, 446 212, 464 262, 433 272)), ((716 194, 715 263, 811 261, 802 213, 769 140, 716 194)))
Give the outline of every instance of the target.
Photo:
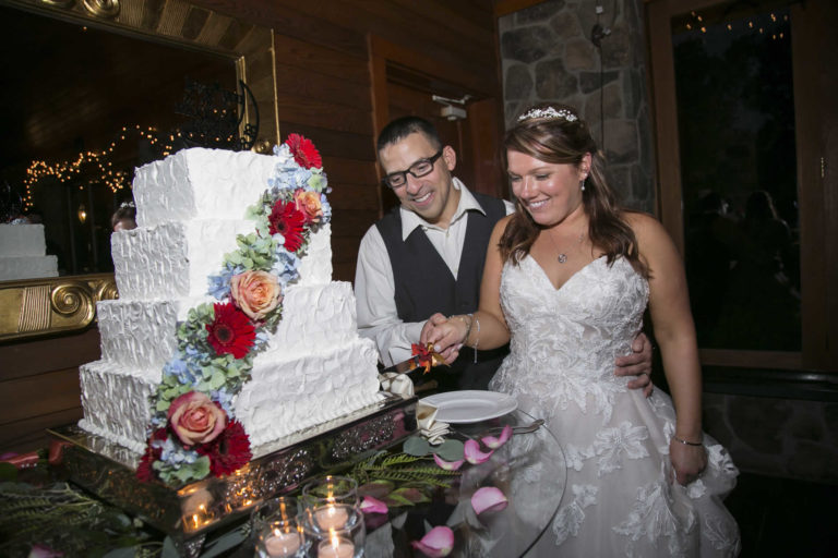
MULTIPOLYGON (((503 268, 511 354, 490 389, 546 418, 567 464, 552 529, 527 556, 739 554, 739 529, 721 504, 739 473, 729 453, 705 435, 704 474, 686 487, 672 482, 671 399, 660 389, 647 399, 614 376, 614 359, 631 352, 648 295, 647 281, 623 258, 611 266, 596 259, 558 290, 529 256, 503 268)), ((555 489, 549 480, 534 482, 555 489)))

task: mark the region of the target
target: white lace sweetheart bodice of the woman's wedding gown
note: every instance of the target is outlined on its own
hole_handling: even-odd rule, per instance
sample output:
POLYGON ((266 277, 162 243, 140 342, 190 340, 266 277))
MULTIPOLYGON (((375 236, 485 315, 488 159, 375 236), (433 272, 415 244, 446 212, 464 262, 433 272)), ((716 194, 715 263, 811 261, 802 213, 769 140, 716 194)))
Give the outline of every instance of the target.
POLYGON ((631 352, 648 296, 648 282, 624 258, 610 266, 606 257, 595 259, 559 289, 532 257, 507 263, 501 306, 512 332, 511 355, 492 389, 526 395, 543 410, 554 400, 584 409, 591 395, 610 416, 612 395, 627 381, 614 376, 614 359, 631 352))

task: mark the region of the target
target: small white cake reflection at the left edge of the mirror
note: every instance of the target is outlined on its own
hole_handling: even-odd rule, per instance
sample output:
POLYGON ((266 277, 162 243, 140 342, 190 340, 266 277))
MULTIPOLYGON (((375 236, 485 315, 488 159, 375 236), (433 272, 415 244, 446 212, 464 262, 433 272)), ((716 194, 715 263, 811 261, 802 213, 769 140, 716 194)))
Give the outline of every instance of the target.
POLYGON ((58 258, 47 255, 43 225, 0 225, 0 281, 57 276, 58 258))

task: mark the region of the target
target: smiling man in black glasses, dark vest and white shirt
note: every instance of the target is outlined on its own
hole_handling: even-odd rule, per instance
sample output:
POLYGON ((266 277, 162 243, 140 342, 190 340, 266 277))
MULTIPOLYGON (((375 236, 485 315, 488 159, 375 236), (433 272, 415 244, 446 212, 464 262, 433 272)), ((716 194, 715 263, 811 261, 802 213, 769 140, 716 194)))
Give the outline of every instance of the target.
MULTIPOLYGON (((384 185, 400 205, 361 240, 355 276, 358 330, 372 339, 385 366, 407 360, 428 318, 475 312, 494 225, 514 211, 508 202, 470 192, 452 175, 457 156, 430 122, 404 117, 376 144, 384 185)), ((651 392, 651 344, 641 335, 615 374, 636 375, 630 388, 651 392)), ((508 347, 463 347, 451 367, 433 374, 442 390, 487 389, 508 347)))

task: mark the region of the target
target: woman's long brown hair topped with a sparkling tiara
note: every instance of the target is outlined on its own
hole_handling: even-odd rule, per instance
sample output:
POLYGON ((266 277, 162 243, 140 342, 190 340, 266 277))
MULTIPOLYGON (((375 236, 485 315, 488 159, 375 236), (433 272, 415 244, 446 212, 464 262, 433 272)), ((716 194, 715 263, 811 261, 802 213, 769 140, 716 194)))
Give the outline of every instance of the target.
MULTIPOLYGON (((582 203, 588 216, 588 236, 595 250, 601 250, 608 264, 623 256, 642 275, 646 266, 639 260, 637 239, 623 218, 613 191, 606 182, 604 159, 597 148, 590 130, 575 109, 555 102, 535 105, 525 110, 503 138, 502 158, 508 169, 506 153, 523 153, 548 163, 579 166, 586 154, 591 155, 590 171, 582 193, 582 203)), ((518 264, 538 238, 537 225, 519 201, 515 202, 515 215, 501 236, 503 260, 518 264)))

